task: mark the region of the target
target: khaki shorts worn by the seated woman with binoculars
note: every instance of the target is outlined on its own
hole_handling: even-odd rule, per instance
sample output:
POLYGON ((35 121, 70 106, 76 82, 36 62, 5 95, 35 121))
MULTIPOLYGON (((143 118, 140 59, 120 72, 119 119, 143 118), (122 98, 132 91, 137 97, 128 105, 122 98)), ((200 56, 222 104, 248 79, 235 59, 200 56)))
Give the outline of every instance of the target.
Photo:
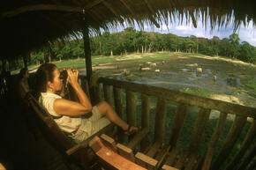
POLYGON ((80 143, 108 126, 109 123, 109 119, 106 116, 102 117, 98 107, 94 106, 92 116, 83 118, 79 130, 71 137, 76 143, 80 143))

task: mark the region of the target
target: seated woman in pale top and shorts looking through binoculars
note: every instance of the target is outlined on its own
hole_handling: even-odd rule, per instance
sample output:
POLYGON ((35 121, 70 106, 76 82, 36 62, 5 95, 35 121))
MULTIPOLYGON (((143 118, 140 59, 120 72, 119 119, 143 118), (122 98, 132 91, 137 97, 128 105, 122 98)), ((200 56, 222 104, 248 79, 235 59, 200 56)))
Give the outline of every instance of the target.
POLYGON ((77 143, 80 143, 94 135, 100 129, 106 127, 110 122, 114 122, 124 129, 126 134, 139 130, 134 126, 128 125, 105 101, 92 107, 87 98, 87 94, 82 90, 78 83, 79 70, 66 69, 68 83, 72 85, 74 92, 77 93, 79 102, 65 100, 56 92, 63 90, 63 79, 60 78, 60 71, 53 63, 44 63, 37 70, 37 85, 41 96, 39 101, 43 107, 49 111, 56 123, 64 132, 77 143), (84 118, 92 112, 91 117, 84 118))

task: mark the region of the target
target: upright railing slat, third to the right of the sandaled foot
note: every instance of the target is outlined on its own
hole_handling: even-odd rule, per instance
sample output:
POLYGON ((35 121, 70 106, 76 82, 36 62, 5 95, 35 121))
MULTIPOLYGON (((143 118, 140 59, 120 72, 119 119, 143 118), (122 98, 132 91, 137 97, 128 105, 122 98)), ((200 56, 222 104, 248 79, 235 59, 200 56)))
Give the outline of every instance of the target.
POLYGON ((189 105, 179 104, 173 120, 173 126, 170 132, 169 144, 171 148, 177 146, 177 141, 184 124, 184 118, 188 113, 189 105))

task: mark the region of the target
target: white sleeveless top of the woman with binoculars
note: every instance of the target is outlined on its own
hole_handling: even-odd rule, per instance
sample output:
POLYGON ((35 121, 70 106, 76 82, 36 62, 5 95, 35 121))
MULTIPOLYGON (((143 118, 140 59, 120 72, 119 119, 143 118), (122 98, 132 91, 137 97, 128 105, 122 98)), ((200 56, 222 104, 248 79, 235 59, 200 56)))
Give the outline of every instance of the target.
POLYGON ((55 117, 54 120, 60 129, 64 130, 65 132, 71 133, 80 126, 81 117, 71 117, 68 115, 62 115, 60 117, 60 115, 57 115, 53 108, 53 104, 56 99, 62 99, 62 97, 54 93, 41 92, 39 102, 43 107, 48 110, 50 115, 53 115, 55 117))

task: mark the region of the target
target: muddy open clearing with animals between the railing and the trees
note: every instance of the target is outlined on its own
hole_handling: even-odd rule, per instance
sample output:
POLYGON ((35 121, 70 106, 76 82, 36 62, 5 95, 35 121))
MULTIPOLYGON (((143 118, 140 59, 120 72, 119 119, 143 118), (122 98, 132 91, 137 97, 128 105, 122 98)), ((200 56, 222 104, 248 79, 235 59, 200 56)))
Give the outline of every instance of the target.
POLYGON ((255 65, 219 56, 169 55, 168 59, 152 63, 131 60, 141 55, 127 55, 116 63, 93 65, 93 70, 103 77, 173 90, 207 89, 214 92, 212 99, 256 107, 256 92, 245 85, 252 79, 255 82, 255 65))

